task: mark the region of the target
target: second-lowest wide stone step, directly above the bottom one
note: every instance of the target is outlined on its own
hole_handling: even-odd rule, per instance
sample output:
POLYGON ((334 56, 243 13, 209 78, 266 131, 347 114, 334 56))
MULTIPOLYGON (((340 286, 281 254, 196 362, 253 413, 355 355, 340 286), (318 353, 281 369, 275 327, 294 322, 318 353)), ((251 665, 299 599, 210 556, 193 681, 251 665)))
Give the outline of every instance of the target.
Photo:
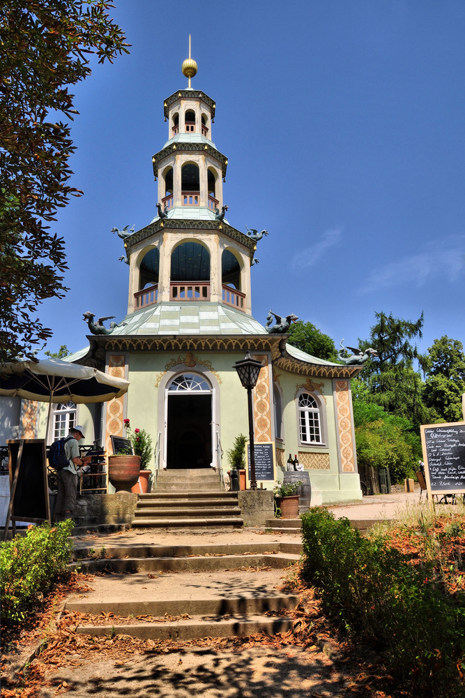
POLYGON ((79 611, 83 614, 113 613, 115 616, 226 616, 229 614, 262 614, 266 611, 280 611, 292 609, 298 604, 298 596, 293 594, 277 593, 275 595, 261 594, 251 595, 245 593, 236 597, 217 597, 203 599, 176 599, 176 600, 133 600, 133 601, 106 601, 93 602, 87 599, 67 601, 65 608, 68 611, 79 611))

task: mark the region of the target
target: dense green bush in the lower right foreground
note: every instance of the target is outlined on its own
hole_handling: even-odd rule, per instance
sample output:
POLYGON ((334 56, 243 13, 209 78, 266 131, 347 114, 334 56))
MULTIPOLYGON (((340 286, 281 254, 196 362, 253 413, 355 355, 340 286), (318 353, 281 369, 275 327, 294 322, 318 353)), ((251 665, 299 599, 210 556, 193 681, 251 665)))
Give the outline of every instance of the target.
POLYGON ((415 695, 464 695, 465 607, 432 574, 389 546, 386 533, 363 537, 326 510, 302 516, 303 572, 326 610, 383 652, 390 671, 415 695))

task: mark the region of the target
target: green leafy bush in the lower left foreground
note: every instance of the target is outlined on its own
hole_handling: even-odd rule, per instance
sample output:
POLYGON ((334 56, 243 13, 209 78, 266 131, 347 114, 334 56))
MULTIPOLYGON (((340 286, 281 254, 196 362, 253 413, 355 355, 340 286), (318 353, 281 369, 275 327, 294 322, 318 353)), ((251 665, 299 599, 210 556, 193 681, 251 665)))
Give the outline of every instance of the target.
POLYGON ((31 613, 40 593, 52 586, 59 574, 66 572, 73 541, 71 519, 42 526, 29 526, 25 536, 1 544, 1 621, 17 625, 31 613))

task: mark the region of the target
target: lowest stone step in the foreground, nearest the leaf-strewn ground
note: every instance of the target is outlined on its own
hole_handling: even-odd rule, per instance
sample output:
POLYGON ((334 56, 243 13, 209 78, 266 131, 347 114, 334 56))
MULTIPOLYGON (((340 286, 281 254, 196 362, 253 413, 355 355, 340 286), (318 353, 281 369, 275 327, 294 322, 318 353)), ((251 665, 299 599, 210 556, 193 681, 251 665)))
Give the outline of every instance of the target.
POLYGON ((165 621, 165 623, 79 625, 76 632, 93 637, 126 634, 140 639, 190 640, 199 637, 246 637, 255 632, 275 634, 291 630, 293 624, 292 618, 273 618, 273 616, 234 616, 233 618, 194 616, 187 620, 165 621))

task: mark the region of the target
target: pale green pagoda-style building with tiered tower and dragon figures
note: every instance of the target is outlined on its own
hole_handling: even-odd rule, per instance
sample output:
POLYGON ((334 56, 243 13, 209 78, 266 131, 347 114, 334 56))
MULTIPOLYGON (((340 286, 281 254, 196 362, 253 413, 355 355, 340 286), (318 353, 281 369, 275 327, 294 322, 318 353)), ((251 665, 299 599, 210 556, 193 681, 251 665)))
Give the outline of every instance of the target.
POLYGON ((87 427, 86 441, 101 438, 111 453, 110 436, 124 436, 129 417, 151 433, 153 469, 229 470, 227 451, 248 434, 247 392, 234 363, 249 350, 264 364, 254 388, 254 440, 273 445, 273 477, 282 480, 289 454, 298 454, 313 503, 361 498, 350 392, 360 366, 307 355, 287 344, 286 325, 269 332, 279 322, 266 328, 252 317, 250 267, 266 241, 229 222, 215 102, 191 86, 195 61, 184 61, 183 73, 188 87, 165 99, 168 140, 152 158, 158 215, 141 230, 118 231, 128 314, 111 332, 89 323, 99 334, 67 359, 127 378, 128 394, 100 409, 77 406, 75 419, 87 427))

